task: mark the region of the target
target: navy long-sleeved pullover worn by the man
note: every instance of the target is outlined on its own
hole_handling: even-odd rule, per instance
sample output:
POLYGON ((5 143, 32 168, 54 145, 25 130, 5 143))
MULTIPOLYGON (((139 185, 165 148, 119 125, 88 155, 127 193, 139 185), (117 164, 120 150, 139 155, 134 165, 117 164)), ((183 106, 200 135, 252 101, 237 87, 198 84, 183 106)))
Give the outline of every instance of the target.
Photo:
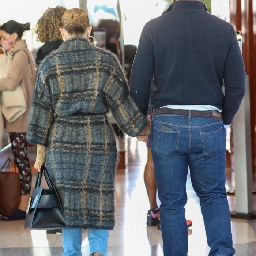
POLYGON ((131 72, 130 92, 147 113, 166 105, 212 105, 231 124, 245 94, 245 67, 230 23, 200 1, 177 1, 143 28, 131 72), (225 96, 222 92, 223 81, 225 96))

